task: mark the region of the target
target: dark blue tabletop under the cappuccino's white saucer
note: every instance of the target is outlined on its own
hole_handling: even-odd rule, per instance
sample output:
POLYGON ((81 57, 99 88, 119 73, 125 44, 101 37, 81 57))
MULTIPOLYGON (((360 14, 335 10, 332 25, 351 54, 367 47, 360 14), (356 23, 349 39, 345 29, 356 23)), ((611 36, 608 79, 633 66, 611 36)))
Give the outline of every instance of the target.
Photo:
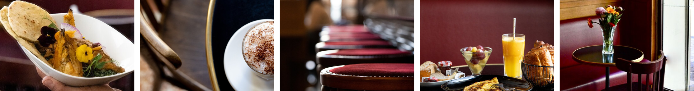
POLYGON ((275 19, 275 1, 217 1, 212 12, 212 59, 217 83, 220 90, 234 90, 224 73, 226 44, 241 26, 258 19, 275 19))

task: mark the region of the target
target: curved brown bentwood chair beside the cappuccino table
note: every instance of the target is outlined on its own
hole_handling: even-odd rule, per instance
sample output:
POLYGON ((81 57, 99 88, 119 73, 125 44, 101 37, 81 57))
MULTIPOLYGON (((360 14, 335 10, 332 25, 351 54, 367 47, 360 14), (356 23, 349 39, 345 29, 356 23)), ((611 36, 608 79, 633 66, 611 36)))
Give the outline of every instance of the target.
MULTIPOLYGON (((142 2, 151 3, 149 1, 152 0, 142 2)), ((152 16, 154 15, 153 13, 160 13, 161 11, 155 10, 153 9, 153 7, 145 5, 147 4, 140 4, 139 6, 139 31, 140 34, 142 34, 142 36, 140 36, 140 48, 142 50, 140 51, 141 53, 145 53, 145 55, 140 56, 141 60, 144 60, 142 56, 150 56, 152 58, 152 60, 145 60, 146 64, 144 65, 148 65, 147 67, 151 67, 151 69, 155 70, 153 71, 155 72, 153 73, 155 74, 154 76, 156 76, 153 77, 155 78, 154 81, 160 81, 163 78, 164 80, 171 82, 173 85, 176 85, 180 88, 184 88, 186 90, 210 90, 201 83, 195 81, 190 76, 187 76, 186 74, 178 70, 178 68, 180 68, 182 65, 178 53, 176 53, 174 50, 171 49, 171 47, 169 47, 169 45, 162 41, 162 39, 159 38, 158 33, 156 31, 158 28, 157 25, 160 24, 158 24, 158 22, 155 22, 156 20, 152 16), (170 73, 172 76, 167 76, 167 72, 170 73)), ((156 87, 162 85, 162 83, 153 83, 153 85, 156 87)))

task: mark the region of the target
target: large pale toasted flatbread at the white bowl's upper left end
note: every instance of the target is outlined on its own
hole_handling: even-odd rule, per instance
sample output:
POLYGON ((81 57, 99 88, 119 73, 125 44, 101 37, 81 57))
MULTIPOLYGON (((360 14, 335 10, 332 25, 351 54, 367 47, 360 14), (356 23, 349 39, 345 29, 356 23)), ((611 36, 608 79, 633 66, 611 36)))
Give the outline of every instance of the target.
POLYGON ((35 42, 41 36, 42 26, 49 26, 55 21, 46 10, 25 1, 10 3, 8 20, 12 31, 29 42, 35 42))

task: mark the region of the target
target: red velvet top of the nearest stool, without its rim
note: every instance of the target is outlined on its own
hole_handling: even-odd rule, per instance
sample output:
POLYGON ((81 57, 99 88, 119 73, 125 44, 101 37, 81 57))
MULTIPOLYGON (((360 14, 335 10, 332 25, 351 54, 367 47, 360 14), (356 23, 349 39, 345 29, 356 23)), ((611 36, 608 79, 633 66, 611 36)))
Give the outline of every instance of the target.
POLYGON ((335 74, 351 76, 416 76, 414 63, 361 63, 330 69, 335 74))

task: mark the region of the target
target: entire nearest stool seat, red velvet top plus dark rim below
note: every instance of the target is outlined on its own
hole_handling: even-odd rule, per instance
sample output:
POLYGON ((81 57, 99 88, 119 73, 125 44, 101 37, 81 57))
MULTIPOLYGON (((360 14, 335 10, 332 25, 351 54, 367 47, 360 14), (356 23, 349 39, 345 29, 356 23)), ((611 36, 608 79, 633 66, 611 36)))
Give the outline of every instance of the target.
POLYGON ((415 90, 413 63, 361 63, 321 70, 321 84, 346 90, 415 90))

